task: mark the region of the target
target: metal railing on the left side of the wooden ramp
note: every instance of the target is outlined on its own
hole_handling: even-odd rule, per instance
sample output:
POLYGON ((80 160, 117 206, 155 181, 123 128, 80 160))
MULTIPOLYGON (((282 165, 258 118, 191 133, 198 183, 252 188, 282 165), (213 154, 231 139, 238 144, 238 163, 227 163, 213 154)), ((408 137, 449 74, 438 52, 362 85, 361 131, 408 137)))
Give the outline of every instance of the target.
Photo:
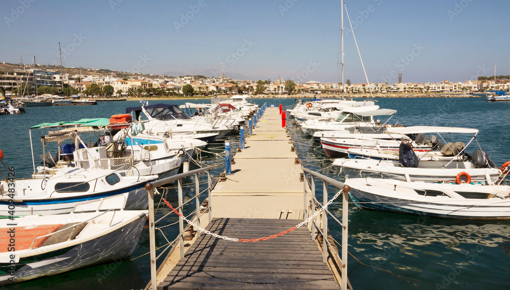
MULTIPOLYGON (((151 288, 156 290, 157 281, 156 281, 156 236, 155 236, 155 222, 154 222, 154 189, 157 187, 163 186, 165 184, 177 181, 178 188, 178 197, 179 197, 179 246, 181 248, 181 258, 184 257, 184 220, 183 220, 183 182, 182 179, 191 175, 195 175, 195 203, 196 203, 196 216, 197 216, 197 225, 200 225, 200 190, 199 190, 199 181, 198 174, 204 171, 207 171, 207 179, 208 179, 208 211, 209 211, 209 222, 212 220, 212 199, 211 199, 211 169, 213 166, 208 166, 204 168, 199 168, 195 170, 191 170, 188 172, 184 172, 181 174, 176 174, 167 178, 163 178, 160 180, 152 181, 145 184, 145 189, 148 193, 148 201, 149 201, 149 245, 150 245, 150 282, 151 288)), ((197 231, 197 235, 200 236, 200 230, 197 231)))

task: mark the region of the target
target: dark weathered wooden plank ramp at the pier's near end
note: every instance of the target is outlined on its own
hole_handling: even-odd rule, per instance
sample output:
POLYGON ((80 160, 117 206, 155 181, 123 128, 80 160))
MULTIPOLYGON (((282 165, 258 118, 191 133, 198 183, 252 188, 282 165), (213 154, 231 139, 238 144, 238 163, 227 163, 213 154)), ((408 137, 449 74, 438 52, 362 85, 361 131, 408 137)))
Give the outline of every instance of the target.
MULTIPOLYGON (((214 219, 208 230, 251 239, 302 220, 214 219)), ((158 289, 339 289, 307 227, 256 243, 202 235, 158 289)))

